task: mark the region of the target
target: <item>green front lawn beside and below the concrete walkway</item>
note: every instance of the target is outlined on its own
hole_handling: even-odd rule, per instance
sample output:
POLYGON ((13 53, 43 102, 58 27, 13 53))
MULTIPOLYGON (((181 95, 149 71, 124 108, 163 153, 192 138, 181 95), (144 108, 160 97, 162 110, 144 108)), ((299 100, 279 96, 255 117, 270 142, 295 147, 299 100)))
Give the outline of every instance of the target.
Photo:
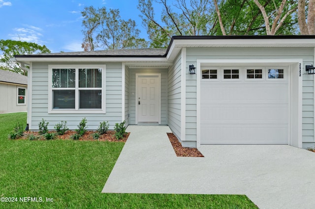
POLYGON ((0 197, 18 198, 0 208, 256 208, 245 195, 101 193, 123 142, 8 139, 17 122, 26 124, 26 113, 0 114, 0 197))

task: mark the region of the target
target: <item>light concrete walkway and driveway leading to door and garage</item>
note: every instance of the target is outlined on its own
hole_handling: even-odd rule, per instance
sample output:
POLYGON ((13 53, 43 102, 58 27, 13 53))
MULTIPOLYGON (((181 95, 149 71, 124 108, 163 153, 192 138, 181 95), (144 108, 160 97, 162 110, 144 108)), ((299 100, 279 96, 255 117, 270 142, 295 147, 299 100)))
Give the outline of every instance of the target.
POLYGON ((165 126, 131 132, 102 192, 245 194, 260 209, 315 208, 315 153, 288 145, 203 145, 176 157, 165 126))

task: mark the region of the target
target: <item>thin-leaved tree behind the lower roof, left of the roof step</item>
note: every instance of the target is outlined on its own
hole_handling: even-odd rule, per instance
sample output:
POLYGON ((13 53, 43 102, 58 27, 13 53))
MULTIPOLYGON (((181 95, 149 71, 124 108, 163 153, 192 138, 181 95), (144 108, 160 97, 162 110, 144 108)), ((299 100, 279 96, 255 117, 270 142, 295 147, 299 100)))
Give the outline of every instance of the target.
POLYGON ((122 20, 118 9, 106 7, 95 9, 86 7, 82 13, 82 30, 84 39, 82 48, 85 51, 94 51, 97 47, 104 49, 132 49, 146 48, 148 43, 139 38, 140 30, 135 21, 122 20))

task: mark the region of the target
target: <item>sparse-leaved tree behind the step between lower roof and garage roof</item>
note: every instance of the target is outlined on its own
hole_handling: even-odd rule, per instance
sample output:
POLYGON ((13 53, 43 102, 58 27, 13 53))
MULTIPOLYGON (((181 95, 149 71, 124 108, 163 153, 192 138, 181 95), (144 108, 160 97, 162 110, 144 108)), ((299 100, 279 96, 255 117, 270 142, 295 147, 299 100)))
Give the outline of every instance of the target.
POLYGON ((167 48, 174 35, 210 35, 213 21, 210 0, 177 0, 174 9, 166 0, 139 0, 142 25, 146 27, 151 47, 167 48), (160 21, 155 17, 154 2, 163 6, 160 21), (175 11, 174 11, 175 10, 175 11))

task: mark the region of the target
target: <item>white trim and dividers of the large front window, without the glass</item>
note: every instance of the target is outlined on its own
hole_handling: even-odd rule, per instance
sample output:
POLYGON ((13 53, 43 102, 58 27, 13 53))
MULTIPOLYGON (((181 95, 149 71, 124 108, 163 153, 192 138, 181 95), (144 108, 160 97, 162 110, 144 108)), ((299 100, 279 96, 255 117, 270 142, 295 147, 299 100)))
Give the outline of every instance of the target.
MULTIPOLYGON (((60 114, 60 113, 83 113, 83 114, 101 114, 101 113, 106 113, 106 65, 105 64, 77 64, 77 65, 72 65, 72 64, 60 64, 60 65, 48 65, 48 114, 60 114), (75 88, 60 88, 62 89, 75 89, 75 109, 53 109, 53 94, 52 94, 52 69, 53 68, 75 68, 75 79, 76 79, 76 84, 75 88), (79 109, 79 68, 100 68, 102 69, 102 105, 101 109, 79 109)), ((85 88, 86 89, 86 88, 85 88)), ((99 89, 99 88, 93 88, 93 89, 99 89)))

